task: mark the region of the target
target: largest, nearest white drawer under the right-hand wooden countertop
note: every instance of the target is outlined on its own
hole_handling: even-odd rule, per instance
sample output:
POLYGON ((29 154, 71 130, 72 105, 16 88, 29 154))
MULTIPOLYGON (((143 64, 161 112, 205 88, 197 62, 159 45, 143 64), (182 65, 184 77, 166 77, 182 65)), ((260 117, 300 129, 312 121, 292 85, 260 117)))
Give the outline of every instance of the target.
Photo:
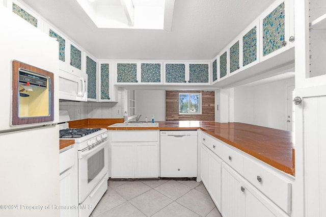
POLYGON ((243 176, 285 212, 291 212, 291 182, 258 160, 244 158, 243 176))

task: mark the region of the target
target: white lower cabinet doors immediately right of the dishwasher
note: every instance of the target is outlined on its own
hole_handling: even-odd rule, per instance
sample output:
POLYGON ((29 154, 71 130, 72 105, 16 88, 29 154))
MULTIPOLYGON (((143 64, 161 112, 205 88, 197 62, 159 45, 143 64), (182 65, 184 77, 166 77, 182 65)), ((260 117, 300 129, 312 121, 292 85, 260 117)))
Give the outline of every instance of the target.
POLYGON ((222 159, 201 144, 201 179, 216 207, 221 210, 222 159))

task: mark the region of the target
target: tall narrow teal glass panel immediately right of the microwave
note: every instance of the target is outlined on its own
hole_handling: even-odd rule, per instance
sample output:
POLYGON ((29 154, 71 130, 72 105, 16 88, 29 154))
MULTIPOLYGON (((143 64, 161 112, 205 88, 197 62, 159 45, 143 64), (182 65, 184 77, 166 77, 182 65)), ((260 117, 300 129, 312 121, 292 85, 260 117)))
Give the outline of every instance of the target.
POLYGON ((96 99, 96 62, 86 57, 86 73, 88 75, 87 97, 96 99))

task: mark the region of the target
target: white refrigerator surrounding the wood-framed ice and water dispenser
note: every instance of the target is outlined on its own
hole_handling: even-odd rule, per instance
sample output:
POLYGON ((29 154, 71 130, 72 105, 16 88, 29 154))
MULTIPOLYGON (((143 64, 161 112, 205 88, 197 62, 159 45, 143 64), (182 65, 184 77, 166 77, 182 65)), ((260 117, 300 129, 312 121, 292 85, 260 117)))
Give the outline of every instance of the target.
POLYGON ((59 216, 58 42, 0 6, 0 216, 59 216), (55 74, 54 120, 11 126, 12 60, 55 74))

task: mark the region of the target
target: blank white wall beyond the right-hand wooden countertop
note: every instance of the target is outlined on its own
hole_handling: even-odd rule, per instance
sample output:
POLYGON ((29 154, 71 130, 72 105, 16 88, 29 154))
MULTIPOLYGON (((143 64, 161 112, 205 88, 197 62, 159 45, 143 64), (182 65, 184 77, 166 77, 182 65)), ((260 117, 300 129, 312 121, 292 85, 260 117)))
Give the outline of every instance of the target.
POLYGON ((234 88, 234 122, 287 130, 286 89, 294 78, 234 88))

